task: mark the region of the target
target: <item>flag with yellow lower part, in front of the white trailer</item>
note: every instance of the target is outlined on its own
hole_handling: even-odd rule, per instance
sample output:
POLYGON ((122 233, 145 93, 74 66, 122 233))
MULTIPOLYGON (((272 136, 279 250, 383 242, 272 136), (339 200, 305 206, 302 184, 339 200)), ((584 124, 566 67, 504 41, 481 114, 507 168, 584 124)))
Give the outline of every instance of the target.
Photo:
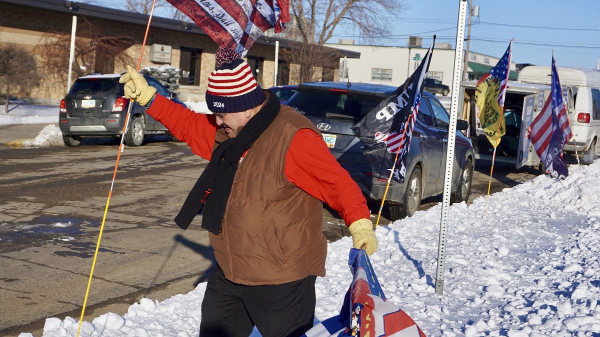
POLYGON ((485 137, 494 148, 500 143, 500 137, 506 133, 504 97, 511 67, 511 52, 512 40, 496 66, 477 81, 477 88, 475 89, 475 102, 479 107, 479 121, 485 137))

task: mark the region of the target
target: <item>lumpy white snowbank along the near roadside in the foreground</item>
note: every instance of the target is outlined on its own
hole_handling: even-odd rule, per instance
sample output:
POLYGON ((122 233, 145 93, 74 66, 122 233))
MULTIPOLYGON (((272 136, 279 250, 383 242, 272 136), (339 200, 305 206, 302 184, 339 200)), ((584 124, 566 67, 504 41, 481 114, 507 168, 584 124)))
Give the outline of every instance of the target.
MULTIPOLYGON (((371 263, 388 300, 427 336, 598 336, 600 161, 569 170, 563 181, 539 176, 492 195, 486 220, 484 197, 452 206, 442 297, 434 293, 440 205, 377 228, 371 263)), ((329 244, 327 276, 316 284, 317 320, 340 310, 351 243, 329 244)), ((205 288, 142 299, 123 316, 85 322, 81 336, 194 336, 205 288)), ((76 330, 73 318, 48 318, 44 336, 76 330)))

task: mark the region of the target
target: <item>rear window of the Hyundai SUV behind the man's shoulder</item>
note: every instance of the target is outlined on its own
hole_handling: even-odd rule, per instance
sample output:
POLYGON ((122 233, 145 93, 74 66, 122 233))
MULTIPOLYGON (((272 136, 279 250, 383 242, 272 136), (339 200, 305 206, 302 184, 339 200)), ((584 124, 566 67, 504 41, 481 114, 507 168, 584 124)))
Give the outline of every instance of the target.
POLYGON ((298 91, 287 101, 287 105, 308 117, 358 122, 382 100, 382 97, 376 95, 352 92, 298 91))

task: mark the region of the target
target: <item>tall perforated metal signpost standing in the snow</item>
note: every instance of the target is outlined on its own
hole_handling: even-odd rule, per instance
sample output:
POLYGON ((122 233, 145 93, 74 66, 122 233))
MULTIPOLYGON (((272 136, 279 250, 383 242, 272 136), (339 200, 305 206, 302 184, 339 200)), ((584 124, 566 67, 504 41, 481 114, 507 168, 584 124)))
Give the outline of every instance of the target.
POLYGON ((452 99, 450 106, 450 125, 448 127, 448 149, 446 150, 446 174, 444 177, 444 196, 442 216, 440 217, 440 240, 437 248, 436 294, 443 294, 444 260, 446 258, 446 239, 448 233, 448 215, 452 188, 452 166, 454 164, 454 144, 456 142, 456 124, 458 118, 458 90, 460 89, 461 65, 463 64, 464 23, 467 17, 467 1, 460 0, 456 31, 456 52, 454 54, 454 76, 452 76, 452 99))

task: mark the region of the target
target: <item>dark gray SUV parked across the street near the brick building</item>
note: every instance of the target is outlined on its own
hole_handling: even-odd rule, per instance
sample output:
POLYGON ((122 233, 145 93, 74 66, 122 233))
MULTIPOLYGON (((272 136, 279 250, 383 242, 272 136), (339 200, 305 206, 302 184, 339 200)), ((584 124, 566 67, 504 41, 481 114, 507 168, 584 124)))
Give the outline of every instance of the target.
MULTIPOLYGON (((123 85, 119 83, 121 74, 89 74, 79 77, 68 94, 61 100, 59 125, 62 140, 67 146, 78 146, 83 137, 121 136, 129 100, 123 97, 123 85)), ((158 94, 177 100, 175 93, 169 92, 153 77, 144 75, 148 84, 157 89, 158 94)), ((128 146, 143 145, 146 134, 170 134, 164 125, 148 115, 142 106, 134 103, 131 107, 131 121, 125 134, 128 146)))

